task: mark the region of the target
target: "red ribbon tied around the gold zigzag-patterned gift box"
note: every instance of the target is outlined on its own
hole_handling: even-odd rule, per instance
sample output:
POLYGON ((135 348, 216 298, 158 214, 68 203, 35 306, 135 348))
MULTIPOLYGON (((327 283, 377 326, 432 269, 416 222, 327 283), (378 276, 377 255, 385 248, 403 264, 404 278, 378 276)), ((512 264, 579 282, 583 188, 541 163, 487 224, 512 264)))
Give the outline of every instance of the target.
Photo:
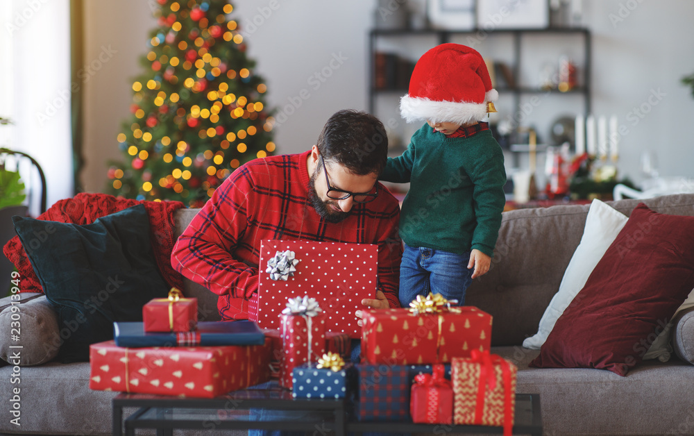
POLYGON ((484 397, 486 389, 496 388, 496 371, 494 367, 498 364, 501 367, 501 375, 504 383, 504 436, 511 436, 513 421, 511 421, 511 368, 509 362, 501 358, 500 355, 490 354, 488 350, 471 351, 471 361, 480 364, 480 386, 477 388, 477 404, 475 405, 475 424, 482 424, 482 414, 484 413, 484 397))

